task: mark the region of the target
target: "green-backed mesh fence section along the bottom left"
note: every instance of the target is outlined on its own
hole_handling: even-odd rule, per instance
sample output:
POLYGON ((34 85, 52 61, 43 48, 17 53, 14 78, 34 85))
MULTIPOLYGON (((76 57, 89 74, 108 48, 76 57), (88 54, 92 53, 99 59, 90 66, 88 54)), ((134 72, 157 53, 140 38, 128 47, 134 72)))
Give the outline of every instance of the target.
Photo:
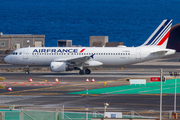
POLYGON ((101 113, 64 112, 62 109, 37 108, 2 111, 0 120, 91 120, 91 118, 103 118, 101 113))

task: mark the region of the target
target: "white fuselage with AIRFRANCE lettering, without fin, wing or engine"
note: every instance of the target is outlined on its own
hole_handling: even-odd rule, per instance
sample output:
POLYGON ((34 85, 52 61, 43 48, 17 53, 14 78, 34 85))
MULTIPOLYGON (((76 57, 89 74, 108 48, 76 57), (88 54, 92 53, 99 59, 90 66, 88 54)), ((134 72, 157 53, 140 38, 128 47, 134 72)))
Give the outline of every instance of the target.
MULTIPOLYGON (((15 65, 49 66, 54 59, 66 60, 94 54, 93 60, 103 65, 124 65, 160 58, 175 53, 152 54, 158 47, 29 47, 15 50, 5 61, 15 65)), ((167 49, 166 49, 167 50, 167 49)))

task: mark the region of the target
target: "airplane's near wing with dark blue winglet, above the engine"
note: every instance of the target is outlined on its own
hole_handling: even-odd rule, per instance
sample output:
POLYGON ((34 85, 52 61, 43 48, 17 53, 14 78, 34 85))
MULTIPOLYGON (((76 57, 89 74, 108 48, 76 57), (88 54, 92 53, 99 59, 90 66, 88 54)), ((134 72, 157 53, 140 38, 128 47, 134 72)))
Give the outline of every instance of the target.
POLYGON ((96 66, 96 65, 102 65, 101 62, 92 60, 93 55, 91 56, 83 56, 83 57, 77 57, 77 58, 67 58, 67 59, 54 59, 53 62, 66 62, 71 65, 75 66, 96 66))

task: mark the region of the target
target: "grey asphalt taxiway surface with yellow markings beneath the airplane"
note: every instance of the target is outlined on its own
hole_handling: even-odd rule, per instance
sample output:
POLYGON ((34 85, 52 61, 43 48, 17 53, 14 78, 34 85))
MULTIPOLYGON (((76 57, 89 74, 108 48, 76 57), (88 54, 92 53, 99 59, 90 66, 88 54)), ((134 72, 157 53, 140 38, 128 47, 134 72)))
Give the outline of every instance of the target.
MULTIPOLYGON (((109 103, 109 109, 118 110, 155 110, 159 111, 159 95, 69 95, 67 93, 94 88, 112 87, 129 84, 128 78, 150 78, 159 76, 159 68, 163 69, 163 74, 169 76, 169 71, 180 71, 179 56, 159 59, 147 63, 120 67, 100 67, 93 70, 90 75, 79 75, 78 71, 52 73, 52 72, 31 72, 25 75, 23 72, 1 72, 0 76, 5 77, 4 82, 28 82, 29 78, 33 82, 54 82, 55 78, 59 82, 69 82, 69 84, 59 84, 55 86, 21 86, 12 85, 12 92, 0 91, 0 104, 16 106, 39 106, 39 107, 71 107, 104 108, 103 103, 109 103), (162 64, 163 61, 163 64, 162 64), (165 62, 165 64, 164 64, 165 62), (95 79, 94 83, 86 83, 86 78, 95 79), (107 86, 103 82, 107 82, 107 86)), ((14 68, 19 66, 0 65, 0 68, 14 68)), ((6 86, 7 88, 8 86, 6 86)), ((177 94, 177 111, 180 110, 180 95, 177 94)), ((174 108, 174 95, 163 95, 163 110, 170 111, 174 108)))

